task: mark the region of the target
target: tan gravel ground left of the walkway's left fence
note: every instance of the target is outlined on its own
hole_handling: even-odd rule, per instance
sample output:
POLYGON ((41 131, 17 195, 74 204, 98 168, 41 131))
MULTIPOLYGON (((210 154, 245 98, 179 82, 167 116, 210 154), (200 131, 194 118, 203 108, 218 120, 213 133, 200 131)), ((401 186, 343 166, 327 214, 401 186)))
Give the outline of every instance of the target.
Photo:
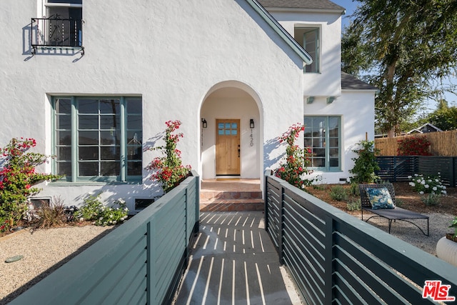
POLYGON ((66 226, 39 229, 33 234, 24 229, 1 237, 0 304, 8 304, 111 229, 112 226, 66 226), (16 255, 24 258, 5 262, 16 255))

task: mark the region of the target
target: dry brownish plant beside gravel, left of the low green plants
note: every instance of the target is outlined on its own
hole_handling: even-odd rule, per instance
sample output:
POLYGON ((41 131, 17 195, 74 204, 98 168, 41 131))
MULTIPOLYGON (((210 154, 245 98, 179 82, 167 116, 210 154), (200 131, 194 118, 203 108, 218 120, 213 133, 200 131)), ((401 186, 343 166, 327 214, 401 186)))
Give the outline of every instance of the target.
POLYGON ((53 226, 61 226, 66 223, 64 201, 60 197, 54 197, 48 204, 42 201, 36 211, 36 228, 45 229, 53 226))

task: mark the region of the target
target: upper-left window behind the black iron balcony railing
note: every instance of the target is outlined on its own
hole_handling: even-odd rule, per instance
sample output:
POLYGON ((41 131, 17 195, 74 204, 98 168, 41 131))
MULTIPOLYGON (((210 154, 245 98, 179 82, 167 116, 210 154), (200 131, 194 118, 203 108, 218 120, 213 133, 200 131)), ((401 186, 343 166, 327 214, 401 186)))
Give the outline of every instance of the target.
POLYGON ((46 0, 46 32, 49 46, 82 46, 82 0, 46 0))

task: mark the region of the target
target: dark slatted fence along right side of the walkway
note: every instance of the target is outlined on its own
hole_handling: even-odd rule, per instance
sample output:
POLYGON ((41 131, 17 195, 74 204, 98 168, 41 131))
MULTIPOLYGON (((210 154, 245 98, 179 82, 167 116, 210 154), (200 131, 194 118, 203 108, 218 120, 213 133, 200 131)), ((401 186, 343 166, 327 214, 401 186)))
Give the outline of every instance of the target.
POLYGON ((266 230, 308 304, 432 304, 426 280, 457 296, 457 267, 267 172, 265 181, 266 230))

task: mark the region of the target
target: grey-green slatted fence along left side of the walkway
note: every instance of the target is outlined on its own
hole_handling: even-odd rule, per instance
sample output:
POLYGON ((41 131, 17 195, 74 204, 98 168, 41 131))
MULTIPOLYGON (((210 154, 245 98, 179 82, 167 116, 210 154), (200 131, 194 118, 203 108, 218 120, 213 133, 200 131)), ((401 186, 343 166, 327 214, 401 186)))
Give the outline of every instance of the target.
POLYGON ((169 304, 199 230, 192 174, 10 304, 169 304))

